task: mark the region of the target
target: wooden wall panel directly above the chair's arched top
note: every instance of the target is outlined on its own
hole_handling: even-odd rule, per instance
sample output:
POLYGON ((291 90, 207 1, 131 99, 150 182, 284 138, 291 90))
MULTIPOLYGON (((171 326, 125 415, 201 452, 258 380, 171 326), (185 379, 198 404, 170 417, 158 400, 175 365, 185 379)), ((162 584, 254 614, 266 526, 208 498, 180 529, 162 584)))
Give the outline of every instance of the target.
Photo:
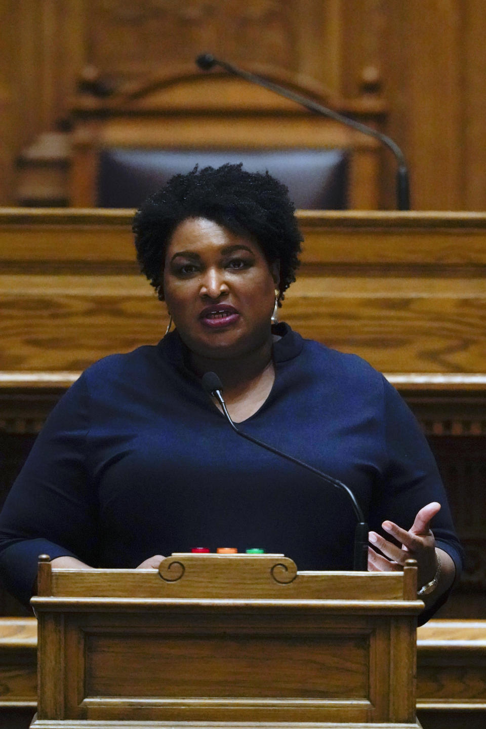
POLYGON ((128 8, 119 0, 92 0, 84 28, 86 61, 115 77, 133 79, 211 50, 243 65, 251 61, 308 74, 338 91, 332 66, 339 4, 187 0, 138 1, 128 8))

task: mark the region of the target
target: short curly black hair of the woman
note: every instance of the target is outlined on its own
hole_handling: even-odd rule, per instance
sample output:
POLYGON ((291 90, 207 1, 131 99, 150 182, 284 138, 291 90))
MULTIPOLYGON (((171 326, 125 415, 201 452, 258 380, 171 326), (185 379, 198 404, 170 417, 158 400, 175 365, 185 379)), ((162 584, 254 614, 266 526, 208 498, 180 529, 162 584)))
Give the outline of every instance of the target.
POLYGON ((268 172, 248 172, 243 163, 203 169, 196 165, 187 174, 171 177, 136 212, 133 233, 141 272, 163 300, 165 247, 179 223, 204 217, 237 235, 249 233, 270 264, 280 260, 283 299, 295 281, 301 250, 294 211, 286 186, 268 172))

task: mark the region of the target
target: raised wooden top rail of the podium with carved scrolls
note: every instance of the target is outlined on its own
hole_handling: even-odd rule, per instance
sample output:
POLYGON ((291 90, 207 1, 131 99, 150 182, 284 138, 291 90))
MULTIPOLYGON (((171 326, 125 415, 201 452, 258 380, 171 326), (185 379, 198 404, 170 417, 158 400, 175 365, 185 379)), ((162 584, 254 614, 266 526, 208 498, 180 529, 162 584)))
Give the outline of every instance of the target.
MULTIPOLYGON (((42 564, 44 571, 45 565, 42 564)), ((96 569, 77 571, 49 569, 52 588, 39 589, 39 599, 51 595, 68 599, 125 598, 130 601, 146 599, 154 603, 162 599, 167 604, 174 600, 232 600, 258 599, 270 604, 272 600, 285 600, 289 604, 302 605, 302 601, 345 601, 353 585, 356 601, 373 602, 392 600, 399 603, 412 601, 412 609, 420 611, 420 601, 415 603, 414 574, 402 572, 297 572, 297 566, 283 555, 192 555, 173 554, 160 563, 158 572, 153 569, 96 569), (211 576, 209 579, 208 575, 211 576), (51 592, 52 590, 52 592, 51 592), (407 593, 405 592, 407 590, 407 593)), ((412 570, 414 572, 414 570, 412 570)), ((50 583, 47 583, 48 585, 50 583)), ((47 601, 46 605, 51 601, 47 601)), ((80 604, 80 603, 79 603, 80 604)), ((98 602, 101 604, 101 601, 98 602)), ((332 606, 330 606, 332 607, 332 606)), ((410 607, 410 606, 409 606, 410 607)))

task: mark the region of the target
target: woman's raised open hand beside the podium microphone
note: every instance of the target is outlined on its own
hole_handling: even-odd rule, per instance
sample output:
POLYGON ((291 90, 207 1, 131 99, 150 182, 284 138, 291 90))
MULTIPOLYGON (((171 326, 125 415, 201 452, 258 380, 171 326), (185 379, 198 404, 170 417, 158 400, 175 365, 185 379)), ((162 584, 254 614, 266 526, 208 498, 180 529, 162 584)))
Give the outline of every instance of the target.
POLYGON ((437 569, 437 557, 435 551, 435 539, 432 534, 431 519, 440 510, 438 502, 427 504, 418 512, 415 521, 408 531, 394 524, 392 521, 384 521, 382 526, 388 534, 391 534, 401 547, 394 542, 388 542, 375 531, 369 532, 369 541, 377 547, 382 554, 375 552, 372 547, 368 548, 368 569, 370 572, 390 572, 391 570, 402 569, 407 559, 417 560, 418 585, 425 585, 434 579, 437 569), (384 555, 384 556, 383 556, 384 555))

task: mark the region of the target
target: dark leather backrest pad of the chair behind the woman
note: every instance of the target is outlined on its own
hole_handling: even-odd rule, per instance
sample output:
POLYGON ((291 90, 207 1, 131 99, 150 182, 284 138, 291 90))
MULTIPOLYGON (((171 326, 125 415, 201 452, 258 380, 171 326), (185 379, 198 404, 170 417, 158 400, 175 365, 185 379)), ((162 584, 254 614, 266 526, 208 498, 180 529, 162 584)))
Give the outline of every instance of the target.
POLYGON ((134 208, 171 176, 224 163, 250 172, 269 171, 289 188, 297 208, 343 210, 348 206, 348 152, 344 149, 102 149, 97 204, 134 208))

